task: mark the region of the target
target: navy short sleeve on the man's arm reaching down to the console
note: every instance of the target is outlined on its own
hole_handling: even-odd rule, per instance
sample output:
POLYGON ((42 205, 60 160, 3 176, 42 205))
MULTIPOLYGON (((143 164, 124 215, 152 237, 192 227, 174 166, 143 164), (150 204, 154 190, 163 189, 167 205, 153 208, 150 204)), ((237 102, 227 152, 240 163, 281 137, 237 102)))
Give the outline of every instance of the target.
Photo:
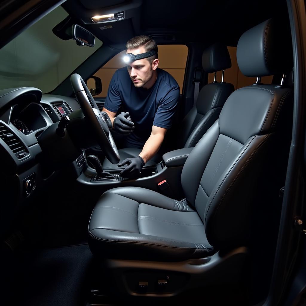
POLYGON ((169 129, 177 106, 180 89, 178 86, 171 88, 159 104, 155 113, 153 125, 169 129))

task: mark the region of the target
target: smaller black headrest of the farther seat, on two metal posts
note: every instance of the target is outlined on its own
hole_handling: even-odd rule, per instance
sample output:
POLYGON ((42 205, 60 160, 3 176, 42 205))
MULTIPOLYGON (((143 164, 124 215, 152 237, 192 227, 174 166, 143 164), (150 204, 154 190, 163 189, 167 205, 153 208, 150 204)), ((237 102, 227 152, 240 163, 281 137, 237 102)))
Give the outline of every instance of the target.
POLYGON ((202 66, 203 70, 207 73, 230 68, 232 62, 230 61, 230 54, 227 47, 221 43, 215 43, 206 48, 202 55, 202 66))

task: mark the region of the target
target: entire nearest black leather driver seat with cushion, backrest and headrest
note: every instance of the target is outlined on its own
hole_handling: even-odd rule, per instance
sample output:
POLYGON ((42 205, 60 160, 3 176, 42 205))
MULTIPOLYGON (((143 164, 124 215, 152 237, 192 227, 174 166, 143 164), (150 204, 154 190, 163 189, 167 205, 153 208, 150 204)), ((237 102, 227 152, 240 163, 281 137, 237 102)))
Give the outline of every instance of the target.
MULTIPOLYGON (((267 76, 292 69, 291 43, 284 39, 273 19, 245 32, 237 46, 241 72, 267 76)), ((203 275, 203 282, 207 275, 210 281, 222 279, 230 268, 236 271, 240 260, 226 265, 218 260, 221 254, 230 256, 248 246, 250 237, 259 235, 256 228, 265 226, 269 195, 278 197, 273 186, 281 187, 285 177, 292 98, 292 88, 275 85, 254 84, 234 91, 185 162, 184 200, 139 187, 103 193, 88 227, 93 254, 111 260, 114 270, 146 269, 141 275, 152 269, 174 271, 183 261, 179 271, 185 273, 188 265, 197 280, 199 273, 203 275), (218 273, 205 274, 213 265, 209 258, 215 258, 218 273)))

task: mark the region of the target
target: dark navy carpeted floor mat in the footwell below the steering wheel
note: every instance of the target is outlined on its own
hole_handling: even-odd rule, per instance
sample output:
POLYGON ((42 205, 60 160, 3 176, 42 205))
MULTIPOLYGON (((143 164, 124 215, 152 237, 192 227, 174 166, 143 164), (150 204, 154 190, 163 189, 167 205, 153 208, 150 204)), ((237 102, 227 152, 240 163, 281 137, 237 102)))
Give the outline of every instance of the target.
POLYGON ((12 304, 84 305, 92 254, 87 244, 23 254, 15 272, 12 304))

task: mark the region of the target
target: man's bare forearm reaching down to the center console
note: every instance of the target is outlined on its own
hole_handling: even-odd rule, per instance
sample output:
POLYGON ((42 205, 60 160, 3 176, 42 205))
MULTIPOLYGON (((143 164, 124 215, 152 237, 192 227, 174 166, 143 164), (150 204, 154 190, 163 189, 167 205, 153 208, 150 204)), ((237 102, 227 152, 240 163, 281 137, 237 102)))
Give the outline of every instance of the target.
POLYGON ((139 156, 142 157, 144 162, 150 160, 159 150, 164 140, 167 129, 160 128, 158 126, 152 126, 152 132, 139 156))

